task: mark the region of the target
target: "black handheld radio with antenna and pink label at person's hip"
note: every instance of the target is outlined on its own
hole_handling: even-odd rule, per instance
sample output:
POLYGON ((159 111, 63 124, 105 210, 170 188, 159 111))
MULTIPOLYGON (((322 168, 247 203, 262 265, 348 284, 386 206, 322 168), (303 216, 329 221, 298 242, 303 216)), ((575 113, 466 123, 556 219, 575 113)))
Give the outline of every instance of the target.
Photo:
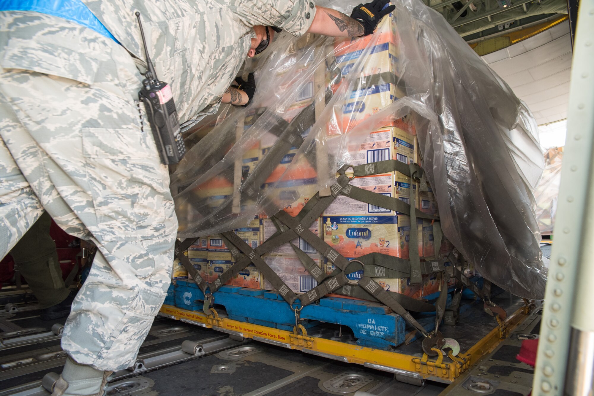
POLYGON ((178 112, 173 103, 173 94, 169 84, 159 81, 150 60, 147 43, 144 39, 140 12, 136 12, 140 35, 143 38, 144 54, 147 57, 148 71, 144 75, 143 88, 138 92, 138 99, 144 103, 149 118, 154 142, 157 144, 161 162, 165 165, 177 164, 186 152, 184 139, 179 128, 178 112))

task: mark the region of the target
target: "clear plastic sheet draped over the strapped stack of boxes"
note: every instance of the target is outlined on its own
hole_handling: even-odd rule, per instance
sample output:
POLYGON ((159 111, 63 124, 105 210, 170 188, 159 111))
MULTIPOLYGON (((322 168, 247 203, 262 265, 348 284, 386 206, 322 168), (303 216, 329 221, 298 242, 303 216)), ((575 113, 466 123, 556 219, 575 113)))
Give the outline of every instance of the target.
MULTIPOLYGON (((318 2, 346 14, 357 4, 318 2)), ((360 158, 361 147, 404 117, 419 141, 408 161, 423 159, 444 236, 486 279, 540 299, 535 120, 440 14, 421 0, 394 4, 372 36, 285 32, 263 52, 251 104, 218 117, 172 175, 179 237, 303 205, 343 165, 388 159, 360 158)))

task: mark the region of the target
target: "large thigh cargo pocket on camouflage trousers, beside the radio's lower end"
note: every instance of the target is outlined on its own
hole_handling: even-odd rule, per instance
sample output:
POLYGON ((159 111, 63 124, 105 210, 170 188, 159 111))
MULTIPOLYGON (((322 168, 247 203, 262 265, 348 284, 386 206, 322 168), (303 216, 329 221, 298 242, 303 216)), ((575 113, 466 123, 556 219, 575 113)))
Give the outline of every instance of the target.
POLYGON ((140 129, 83 128, 82 137, 97 216, 97 229, 89 226, 91 231, 103 241, 163 237, 163 200, 169 191, 149 134, 140 129))

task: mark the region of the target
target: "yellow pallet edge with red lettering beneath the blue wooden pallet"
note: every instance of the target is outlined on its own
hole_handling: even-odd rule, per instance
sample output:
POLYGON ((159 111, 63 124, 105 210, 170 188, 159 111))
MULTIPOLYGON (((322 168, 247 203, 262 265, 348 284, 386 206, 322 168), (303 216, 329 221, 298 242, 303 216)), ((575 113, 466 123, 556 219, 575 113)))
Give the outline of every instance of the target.
POLYGON ((465 372, 470 365, 476 363, 486 353, 491 352, 511 333, 514 327, 527 318, 532 308, 532 304, 522 306, 509 315, 505 321, 499 321, 497 327, 467 351, 460 352, 458 356, 452 356, 451 353, 448 356, 443 356, 440 353, 435 360, 428 359, 427 355, 418 357, 319 337, 309 337, 304 328, 301 328, 299 334, 295 334, 292 331, 231 320, 219 316, 214 309, 211 315, 206 315, 203 312, 187 311, 172 305, 163 305, 159 315, 201 327, 213 328, 235 336, 252 338, 255 341, 301 350, 328 359, 357 363, 413 379, 429 379, 449 384, 465 372))

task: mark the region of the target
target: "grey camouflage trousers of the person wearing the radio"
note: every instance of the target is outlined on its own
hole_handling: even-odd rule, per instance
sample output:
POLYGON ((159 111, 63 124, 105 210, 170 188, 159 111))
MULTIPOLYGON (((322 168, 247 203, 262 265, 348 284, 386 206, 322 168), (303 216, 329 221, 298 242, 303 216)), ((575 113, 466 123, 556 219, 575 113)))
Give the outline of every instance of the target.
POLYGON ((43 210, 93 241, 62 348, 127 368, 165 299, 178 225, 142 76, 115 41, 37 12, 0 12, 0 62, 0 257, 43 210))

